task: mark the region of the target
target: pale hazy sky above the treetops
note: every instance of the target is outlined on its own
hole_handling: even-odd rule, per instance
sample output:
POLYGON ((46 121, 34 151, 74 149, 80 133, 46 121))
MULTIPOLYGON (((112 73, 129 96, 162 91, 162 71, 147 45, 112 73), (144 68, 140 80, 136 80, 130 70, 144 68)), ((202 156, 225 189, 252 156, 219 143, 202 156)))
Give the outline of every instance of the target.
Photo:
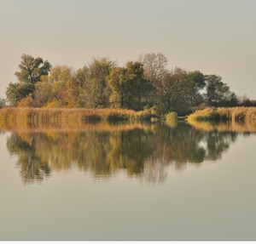
POLYGON ((52 66, 92 57, 124 66, 162 53, 168 68, 217 74, 256 100, 256 0, 1 0, 0 98, 21 54, 52 66))

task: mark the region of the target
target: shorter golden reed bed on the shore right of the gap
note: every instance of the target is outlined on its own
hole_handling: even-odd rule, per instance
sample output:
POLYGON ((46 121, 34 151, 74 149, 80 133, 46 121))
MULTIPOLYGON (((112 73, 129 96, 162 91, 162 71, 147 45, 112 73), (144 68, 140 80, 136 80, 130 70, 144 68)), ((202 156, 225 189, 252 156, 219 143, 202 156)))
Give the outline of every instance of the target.
POLYGON ((256 107, 207 107, 197 110, 187 118, 189 121, 235 121, 245 122, 256 120, 256 107))

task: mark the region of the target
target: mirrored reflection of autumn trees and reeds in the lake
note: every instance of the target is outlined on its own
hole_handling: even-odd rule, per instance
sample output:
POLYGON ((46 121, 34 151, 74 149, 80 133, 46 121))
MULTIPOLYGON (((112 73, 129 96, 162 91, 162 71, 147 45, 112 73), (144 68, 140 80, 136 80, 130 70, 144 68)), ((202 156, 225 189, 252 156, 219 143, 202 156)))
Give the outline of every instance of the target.
POLYGON ((11 128, 7 148, 11 155, 18 156, 17 166, 25 184, 42 181, 52 171, 73 167, 96 178, 108 178, 125 169, 129 176, 163 182, 166 165, 182 169, 188 163, 199 166, 205 160, 215 161, 238 134, 217 128, 206 130, 207 124, 201 130, 200 124, 192 127, 184 122, 175 127, 160 122, 76 126, 57 123, 52 127, 30 125, 31 128, 25 124, 0 127, 11 128))

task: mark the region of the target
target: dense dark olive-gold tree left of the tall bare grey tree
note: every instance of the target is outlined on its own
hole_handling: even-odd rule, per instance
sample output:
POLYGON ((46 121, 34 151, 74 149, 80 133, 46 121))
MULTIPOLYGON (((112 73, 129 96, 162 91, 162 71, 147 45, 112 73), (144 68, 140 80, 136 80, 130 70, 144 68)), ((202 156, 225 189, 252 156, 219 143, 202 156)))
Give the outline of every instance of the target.
POLYGON ((128 62, 125 67, 117 67, 107 77, 112 89, 110 101, 116 108, 141 110, 141 100, 148 88, 143 78, 143 65, 140 62, 128 62))

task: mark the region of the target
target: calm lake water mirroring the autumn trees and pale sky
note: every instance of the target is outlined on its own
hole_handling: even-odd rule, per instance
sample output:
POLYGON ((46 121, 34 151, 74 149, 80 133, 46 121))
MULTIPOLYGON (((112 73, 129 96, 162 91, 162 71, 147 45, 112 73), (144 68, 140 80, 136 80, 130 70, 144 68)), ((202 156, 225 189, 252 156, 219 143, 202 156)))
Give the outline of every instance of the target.
POLYGON ((0 240, 256 240, 256 125, 0 125, 0 240))

